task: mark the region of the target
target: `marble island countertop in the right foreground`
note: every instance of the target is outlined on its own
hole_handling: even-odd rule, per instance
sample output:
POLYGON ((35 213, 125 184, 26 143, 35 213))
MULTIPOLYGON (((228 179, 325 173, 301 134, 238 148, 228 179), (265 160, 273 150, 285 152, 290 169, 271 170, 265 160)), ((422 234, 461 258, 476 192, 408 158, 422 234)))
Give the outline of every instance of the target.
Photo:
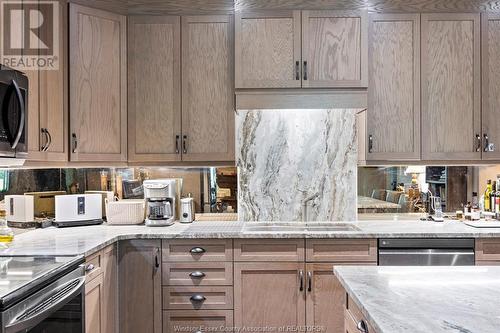
POLYGON ((335 275, 377 333, 498 333, 500 267, 348 267, 335 275))

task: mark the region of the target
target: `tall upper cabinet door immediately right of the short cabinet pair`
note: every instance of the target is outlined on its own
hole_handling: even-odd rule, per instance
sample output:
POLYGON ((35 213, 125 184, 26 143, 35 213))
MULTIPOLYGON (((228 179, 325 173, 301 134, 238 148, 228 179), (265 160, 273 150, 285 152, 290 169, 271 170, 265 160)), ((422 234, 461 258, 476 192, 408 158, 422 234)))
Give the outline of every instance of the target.
POLYGON ((420 15, 371 14, 367 160, 420 159, 420 15))

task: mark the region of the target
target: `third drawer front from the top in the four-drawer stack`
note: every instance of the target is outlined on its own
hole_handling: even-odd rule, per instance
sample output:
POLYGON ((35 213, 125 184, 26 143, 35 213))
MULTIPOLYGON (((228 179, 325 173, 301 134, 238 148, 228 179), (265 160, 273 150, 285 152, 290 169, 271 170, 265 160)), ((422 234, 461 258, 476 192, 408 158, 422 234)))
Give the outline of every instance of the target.
POLYGON ((165 310, 231 310, 232 287, 163 287, 165 310))

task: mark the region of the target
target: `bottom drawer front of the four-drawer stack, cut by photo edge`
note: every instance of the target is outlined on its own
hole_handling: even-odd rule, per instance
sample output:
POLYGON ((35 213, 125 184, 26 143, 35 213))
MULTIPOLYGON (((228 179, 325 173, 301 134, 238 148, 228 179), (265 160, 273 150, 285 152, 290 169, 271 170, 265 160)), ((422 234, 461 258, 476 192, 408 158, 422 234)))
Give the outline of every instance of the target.
POLYGON ((163 333, 230 332, 232 327, 232 310, 163 311, 163 333))

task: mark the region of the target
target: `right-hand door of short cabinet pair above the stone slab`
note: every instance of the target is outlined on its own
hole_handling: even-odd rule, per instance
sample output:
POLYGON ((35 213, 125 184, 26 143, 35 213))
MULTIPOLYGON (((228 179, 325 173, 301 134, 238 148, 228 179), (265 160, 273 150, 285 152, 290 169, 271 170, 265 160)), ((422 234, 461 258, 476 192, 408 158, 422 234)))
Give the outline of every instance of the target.
POLYGON ((302 12, 302 86, 367 87, 365 11, 302 12))

